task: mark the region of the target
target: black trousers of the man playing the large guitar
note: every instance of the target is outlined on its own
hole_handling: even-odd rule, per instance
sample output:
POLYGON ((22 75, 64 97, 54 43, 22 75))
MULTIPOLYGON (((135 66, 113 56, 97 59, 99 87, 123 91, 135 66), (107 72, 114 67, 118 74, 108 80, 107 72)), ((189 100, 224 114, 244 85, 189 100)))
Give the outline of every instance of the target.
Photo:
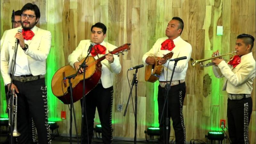
MULTIPOLYGON (((82 106, 83 99, 80 100, 82 106)), ((85 108, 87 115, 89 143, 92 142, 93 125, 96 107, 100 117, 102 128, 102 140, 105 144, 110 144, 112 137, 112 103, 113 103, 113 86, 103 88, 98 84, 91 92, 85 96, 85 108)), ((83 125, 83 144, 88 143, 86 118, 84 116, 83 125)))

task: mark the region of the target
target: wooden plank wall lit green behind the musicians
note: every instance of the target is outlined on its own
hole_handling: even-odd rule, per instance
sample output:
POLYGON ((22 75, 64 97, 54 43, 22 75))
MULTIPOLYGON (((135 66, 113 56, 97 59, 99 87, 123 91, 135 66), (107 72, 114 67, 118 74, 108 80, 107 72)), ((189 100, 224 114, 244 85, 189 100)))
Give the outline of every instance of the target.
MULTIPOLYGON (((124 43, 132 44, 131 50, 120 56, 122 71, 116 75, 114 83, 112 114, 114 137, 134 137, 131 103, 127 115, 123 116, 130 91, 126 78, 127 69, 142 63, 143 54, 152 47, 157 38, 165 36, 165 28, 173 16, 183 19, 184 30, 181 37, 192 45, 192 58, 197 60, 211 57, 212 52, 217 49, 222 54, 234 51, 238 34, 247 33, 256 37, 255 0, 0 0, 0 2, 1 36, 4 30, 11 28, 12 9, 20 9, 27 2, 40 7, 41 18, 38 26, 52 33, 52 50, 49 57, 55 58, 57 67, 53 71, 68 64, 68 54, 76 48, 80 40, 90 38, 90 28, 96 22, 102 22, 107 26, 106 41, 117 46, 124 43), (223 36, 216 36, 217 26, 223 26, 223 36), (117 110, 118 104, 123 106, 122 111, 117 110)), ((253 56, 255 58, 255 47, 253 56)), ((133 71, 128 72, 130 81, 132 74, 133 71)), ((220 119, 227 119, 227 93, 222 91, 224 80, 215 78, 212 68, 199 66, 195 69, 189 66, 187 75, 187 96, 183 108, 186 140, 206 140, 205 134, 210 130, 221 131, 218 128, 220 119)), ((145 138, 144 130, 157 123, 157 115, 154 113, 156 108, 153 98, 154 84, 144 81, 144 68, 139 69, 138 80, 137 137, 145 138)), ((49 88, 50 82, 47 84, 49 88)), ((256 143, 255 94, 254 79, 253 112, 249 126, 251 143, 256 143)), ((3 99, 1 99, 1 112, 4 111, 3 99)), ((60 110, 67 111, 67 118, 69 117, 67 105, 57 100, 54 108, 56 110, 50 112, 50 117, 60 118, 60 110)), ((75 108, 80 133, 79 102, 75 103, 75 108)), ((97 115, 95 120, 99 123, 97 115)), ((69 120, 62 120, 58 124, 60 134, 68 135, 69 120)), ((73 132, 75 133, 75 129, 73 132)), ((174 136, 173 129, 171 135, 174 136)))

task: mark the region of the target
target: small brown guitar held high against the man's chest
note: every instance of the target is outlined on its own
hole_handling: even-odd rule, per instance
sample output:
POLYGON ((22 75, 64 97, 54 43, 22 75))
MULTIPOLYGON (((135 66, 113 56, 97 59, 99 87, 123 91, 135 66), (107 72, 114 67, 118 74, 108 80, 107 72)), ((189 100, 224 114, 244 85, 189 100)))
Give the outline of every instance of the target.
MULTIPOLYGON (((164 55, 164 59, 171 59, 173 52, 169 52, 168 54, 164 55)), ((161 76, 162 70, 164 68, 163 65, 159 65, 158 61, 161 59, 160 57, 155 58, 155 64, 147 65, 145 68, 145 81, 154 83, 156 82, 159 77, 161 76)))

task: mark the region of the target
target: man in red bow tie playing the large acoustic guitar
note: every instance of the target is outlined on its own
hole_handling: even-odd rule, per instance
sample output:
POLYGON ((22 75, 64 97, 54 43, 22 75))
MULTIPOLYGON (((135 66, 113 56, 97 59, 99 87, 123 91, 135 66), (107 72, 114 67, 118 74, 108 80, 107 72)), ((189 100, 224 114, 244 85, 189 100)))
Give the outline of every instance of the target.
MULTIPOLYGON (((116 46, 105 42, 107 28, 103 23, 96 23, 91 27, 91 39, 82 40, 76 47, 76 49, 68 56, 69 64, 78 70, 79 66, 82 64, 81 61, 88 54, 93 56, 95 60, 104 56, 109 51, 113 51, 116 46)), ((112 55, 108 53, 105 60, 101 61, 101 77, 97 86, 92 89, 85 96, 85 110, 87 115, 87 125, 86 118, 84 116, 83 124, 83 143, 91 143, 93 135, 93 124, 96 107, 100 117, 100 124, 102 126, 102 140, 105 144, 110 144, 112 142, 112 102, 113 102, 113 79, 114 74, 118 74, 121 71, 121 64, 119 57, 117 55, 112 55), (88 138, 88 136, 89 138, 88 138)), ((83 72, 81 68, 80 73, 83 72)), ((90 83, 87 83, 90 84, 90 83)), ((85 84, 85 87, 86 85, 85 84)), ((81 100, 82 107, 83 99, 81 100)))

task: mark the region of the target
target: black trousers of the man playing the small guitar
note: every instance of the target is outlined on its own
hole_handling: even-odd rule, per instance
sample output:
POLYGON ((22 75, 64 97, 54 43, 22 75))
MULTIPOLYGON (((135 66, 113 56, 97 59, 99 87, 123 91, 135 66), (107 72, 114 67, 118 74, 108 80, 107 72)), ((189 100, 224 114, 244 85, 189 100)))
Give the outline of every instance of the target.
POLYGON ((165 110, 163 112, 164 107, 164 95, 165 88, 162 88, 160 85, 158 86, 158 120, 159 120, 159 128, 160 128, 160 137, 159 144, 167 144, 169 143, 170 138, 170 118, 172 118, 172 126, 175 133, 175 142, 176 144, 185 144, 186 143, 186 132, 185 132, 185 124, 182 115, 183 101, 186 94, 186 84, 181 83, 178 85, 174 85, 171 87, 168 95, 168 138, 166 141, 166 105, 165 110), (161 115, 163 113, 162 122, 160 123, 161 115))

